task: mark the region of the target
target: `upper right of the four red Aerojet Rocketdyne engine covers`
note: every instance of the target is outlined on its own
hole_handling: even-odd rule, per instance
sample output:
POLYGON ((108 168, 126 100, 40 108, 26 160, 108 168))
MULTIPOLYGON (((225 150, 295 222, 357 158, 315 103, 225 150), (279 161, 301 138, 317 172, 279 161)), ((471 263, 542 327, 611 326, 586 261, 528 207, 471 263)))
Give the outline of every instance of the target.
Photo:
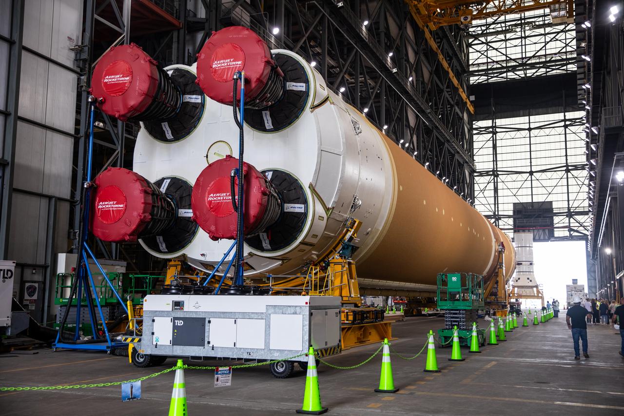
POLYGON ((232 105, 233 76, 245 71, 245 101, 263 89, 275 65, 265 41, 254 31, 230 26, 212 32, 197 55, 197 84, 205 94, 222 104, 232 105))

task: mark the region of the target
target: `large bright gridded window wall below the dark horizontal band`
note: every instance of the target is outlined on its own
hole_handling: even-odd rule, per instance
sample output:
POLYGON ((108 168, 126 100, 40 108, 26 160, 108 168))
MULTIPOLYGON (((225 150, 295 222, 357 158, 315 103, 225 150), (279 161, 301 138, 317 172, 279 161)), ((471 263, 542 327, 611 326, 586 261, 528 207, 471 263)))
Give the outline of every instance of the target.
POLYGON ((475 122, 475 207, 514 230, 514 202, 551 201, 555 239, 585 240, 591 229, 585 192, 582 112, 475 122))

